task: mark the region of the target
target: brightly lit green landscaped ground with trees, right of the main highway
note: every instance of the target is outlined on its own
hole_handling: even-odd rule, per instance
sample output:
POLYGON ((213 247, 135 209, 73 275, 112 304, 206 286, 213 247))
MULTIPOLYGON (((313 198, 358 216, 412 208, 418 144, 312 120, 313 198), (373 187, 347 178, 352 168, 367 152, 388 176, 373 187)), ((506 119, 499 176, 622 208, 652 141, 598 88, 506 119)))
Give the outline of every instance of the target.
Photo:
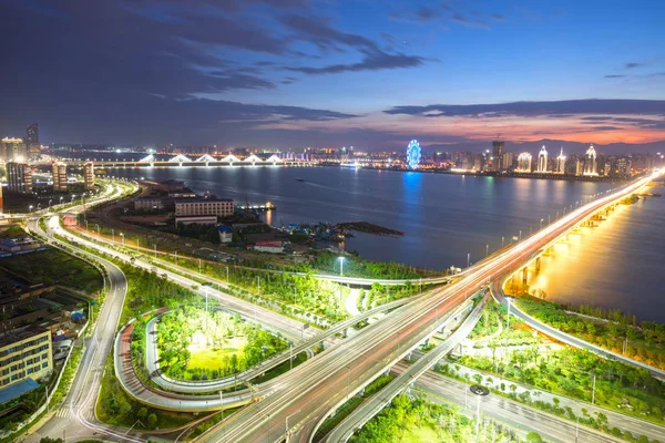
POLYGON ((505 316, 504 306, 488 310, 475 346, 437 371, 628 441, 665 435, 664 384, 648 371, 562 346, 513 316, 509 327, 505 316))

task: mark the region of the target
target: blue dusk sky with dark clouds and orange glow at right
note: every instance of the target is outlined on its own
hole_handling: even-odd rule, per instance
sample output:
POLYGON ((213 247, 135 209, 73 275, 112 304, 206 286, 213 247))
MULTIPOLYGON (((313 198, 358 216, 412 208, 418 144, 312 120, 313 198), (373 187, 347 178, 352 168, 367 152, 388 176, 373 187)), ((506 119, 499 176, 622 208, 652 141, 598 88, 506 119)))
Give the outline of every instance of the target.
POLYGON ((665 140, 665 1, 0 0, 0 135, 665 140))

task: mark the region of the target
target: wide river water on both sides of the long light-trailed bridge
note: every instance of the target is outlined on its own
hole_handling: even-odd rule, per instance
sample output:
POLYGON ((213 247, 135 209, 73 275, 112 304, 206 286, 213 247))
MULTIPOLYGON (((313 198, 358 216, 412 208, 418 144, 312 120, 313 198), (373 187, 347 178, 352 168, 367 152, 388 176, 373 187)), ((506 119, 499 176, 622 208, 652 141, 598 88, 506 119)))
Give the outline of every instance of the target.
MULTIPOLYGON (((172 167, 110 169, 153 181, 184 181, 237 203, 272 202, 274 226, 289 223, 370 222, 403 237, 357 234, 346 243, 372 260, 443 269, 464 267, 485 253, 529 235, 541 219, 615 184, 400 173, 340 167, 172 167), (304 179, 298 182, 296 178, 304 179)), ((665 262, 665 199, 622 206, 597 228, 584 228, 543 259, 533 288, 554 301, 620 308, 641 319, 665 321, 658 269, 665 262), (658 307, 657 309, 655 307, 658 307)))

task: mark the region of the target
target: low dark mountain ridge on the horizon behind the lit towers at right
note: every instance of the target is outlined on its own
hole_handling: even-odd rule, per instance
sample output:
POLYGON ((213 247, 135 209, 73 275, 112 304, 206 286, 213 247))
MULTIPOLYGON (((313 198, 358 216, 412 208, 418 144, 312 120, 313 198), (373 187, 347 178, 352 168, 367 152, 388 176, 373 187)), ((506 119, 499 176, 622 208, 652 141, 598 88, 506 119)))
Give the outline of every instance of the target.
MULTIPOLYGON (((507 152, 519 154, 521 152, 530 152, 536 154, 541 146, 545 145, 550 153, 557 153, 563 146, 563 153, 565 155, 584 154, 589 147, 589 143, 569 142, 565 140, 552 140, 543 138, 535 142, 511 142, 505 141, 507 152)), ((617 154, 633 154, 633 153, 665 153, 665 140, 652 143, 611 143, 611 144, 593 144, 598 154, 617 155, 617 154)), ((450 143, 450 144, 430 144, 422 145, 422 148, 427 153, 433 152, 458 152, 458 151, 470 151, 470 152, 483 152, 492 148, 492 142, 463 142, 463 143, 450 143)))

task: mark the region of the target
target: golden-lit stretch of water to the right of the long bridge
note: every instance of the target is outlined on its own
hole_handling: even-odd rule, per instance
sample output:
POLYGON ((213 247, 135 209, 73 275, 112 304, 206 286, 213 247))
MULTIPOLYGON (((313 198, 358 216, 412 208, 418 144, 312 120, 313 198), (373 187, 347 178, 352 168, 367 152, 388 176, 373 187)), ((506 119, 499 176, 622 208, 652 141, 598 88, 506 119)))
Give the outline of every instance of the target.
POLYGON ((618 308, 665 321, 665 199, 618 205, 596 227, 580 228, 530 269, 532 291, 552 301, 618 308))

